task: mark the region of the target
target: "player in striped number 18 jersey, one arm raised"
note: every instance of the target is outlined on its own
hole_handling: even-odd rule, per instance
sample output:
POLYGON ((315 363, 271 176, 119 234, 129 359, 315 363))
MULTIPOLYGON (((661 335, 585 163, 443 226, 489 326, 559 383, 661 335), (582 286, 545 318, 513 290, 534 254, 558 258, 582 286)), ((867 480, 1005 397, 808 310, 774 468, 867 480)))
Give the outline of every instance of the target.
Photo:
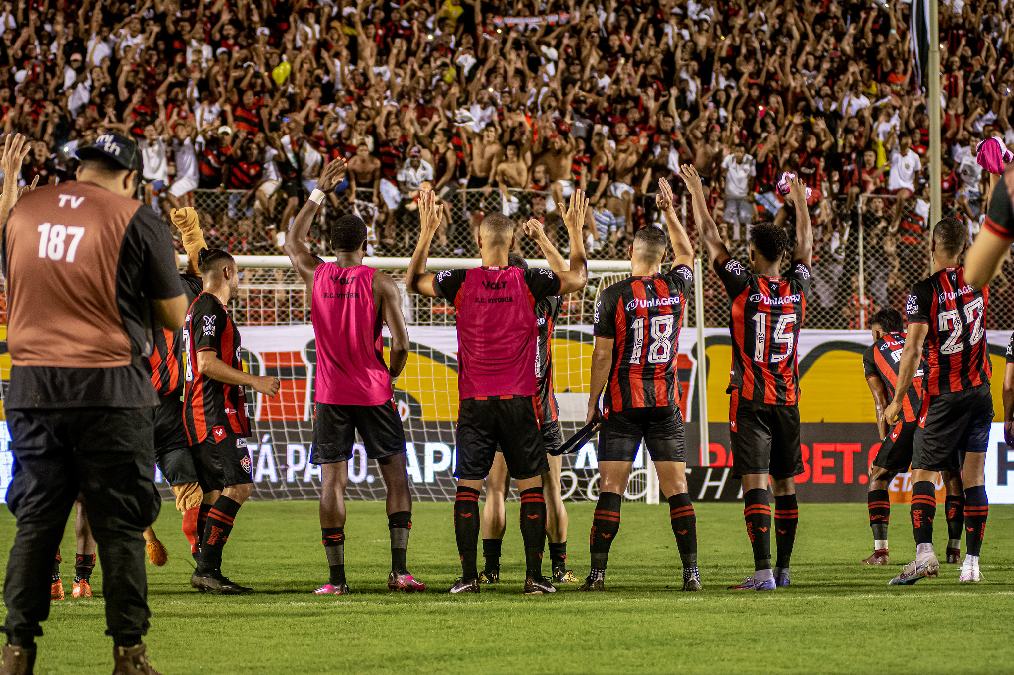
POLYGON ((641 228, 630 247, 631 276, 595 303, 588 422, 601 423, 598 504, 591 525, 591 573, 581 591, 605 590, 609 546, 620 531, 620 504, 638 448, 644 441, 669 502, 669 521, 683 566, 684 591, 700 591, 697 518, 686 493, 683 420, 676 405, 675 363, 686 296, 694 283, 694 248, 672 207, 672 188, 658 181, 655 205, 672 243, 672 267, 661 273, 665 234, 641 228), (602 409, 598 399, 605 390, 602 409))

